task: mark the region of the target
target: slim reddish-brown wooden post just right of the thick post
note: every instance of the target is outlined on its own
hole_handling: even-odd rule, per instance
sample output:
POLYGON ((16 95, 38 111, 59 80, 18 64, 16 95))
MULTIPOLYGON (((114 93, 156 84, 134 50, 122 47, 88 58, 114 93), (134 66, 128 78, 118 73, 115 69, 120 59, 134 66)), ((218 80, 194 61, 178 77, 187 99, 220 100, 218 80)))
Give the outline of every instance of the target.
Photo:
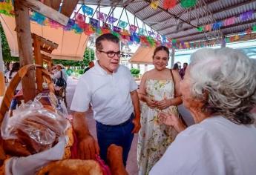
MULTIPOLYGON (((43 66, 43 60, 42 60, 42 55, 40 50, 41 42, 38 39, 38 36, 34 34, 33 34, 33 45, 34 45, 35 63, 36 65, 43 66)), ((37 85, 37 90, 39 90, 40 92, 43 91, 42 83, 43 83, 42 71, 36 68, 36 85, 37 85)))

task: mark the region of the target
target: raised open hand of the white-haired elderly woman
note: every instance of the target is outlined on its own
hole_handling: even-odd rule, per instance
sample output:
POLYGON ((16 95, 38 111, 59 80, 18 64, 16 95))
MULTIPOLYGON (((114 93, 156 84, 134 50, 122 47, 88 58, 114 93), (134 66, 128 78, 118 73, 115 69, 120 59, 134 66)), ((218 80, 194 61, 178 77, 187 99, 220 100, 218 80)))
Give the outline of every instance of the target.
POLYGON ((174 127, 178 133, 186 129, 186 126, 183 125, 183 122, 179 119, 179 117, 175 116, 173 113, 169 114, 160 112, 158 113, 158 118, 163 124, 174 127))

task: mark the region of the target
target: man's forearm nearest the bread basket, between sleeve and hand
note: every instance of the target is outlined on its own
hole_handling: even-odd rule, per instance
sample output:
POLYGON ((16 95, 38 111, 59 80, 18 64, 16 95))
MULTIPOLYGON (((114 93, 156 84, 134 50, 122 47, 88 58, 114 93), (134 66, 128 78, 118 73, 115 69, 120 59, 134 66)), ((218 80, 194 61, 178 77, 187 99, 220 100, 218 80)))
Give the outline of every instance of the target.
POLYGON ((83 139, 85 136, 91 135, 85 119, 85 113, 73 113, 73 129, 79 140, 83 139))

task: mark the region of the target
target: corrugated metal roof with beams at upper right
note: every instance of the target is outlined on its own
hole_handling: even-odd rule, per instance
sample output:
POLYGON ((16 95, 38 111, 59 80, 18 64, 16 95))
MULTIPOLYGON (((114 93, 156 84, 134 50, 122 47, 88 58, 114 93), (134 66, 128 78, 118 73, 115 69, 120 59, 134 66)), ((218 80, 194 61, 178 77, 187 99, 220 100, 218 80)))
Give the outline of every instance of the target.
POLYGON ((197 0, 194 7, 185 9, 181 7, 180 0, 169 10, 163 9, 163 1, 154 10, 150 7, 152 0, 86 0, 79 1, 84 4, 100 4, 107 6, 125 7, 142 22, 163 36, 183 42, 216 39, 240 33, 252 28, 256 24, 256 0, 197 0), (240 14, 253 10, 253 16, 244 22, 240 21, 240 14), (214 22, 224 21, 235 17, 234 24, 222 26, 220 30, 199 32, 197 27, 214 22))

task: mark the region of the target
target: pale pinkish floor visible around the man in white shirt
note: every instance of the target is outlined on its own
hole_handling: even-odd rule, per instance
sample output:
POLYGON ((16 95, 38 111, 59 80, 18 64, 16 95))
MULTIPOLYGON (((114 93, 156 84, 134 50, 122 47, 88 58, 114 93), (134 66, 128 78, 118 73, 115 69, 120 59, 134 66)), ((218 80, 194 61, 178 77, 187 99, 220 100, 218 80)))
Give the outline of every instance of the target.
MULTIPOLYGON (((67 102, 68 102, 68 109, 70 108, 70 103, 73 99, 73 93, 76 89, 77 79, 72 79, 72 77, 68 77, 68 87, 67 87, 67 102)), ((95 120, 93 119, 93 113, 92 111, 89 111, 87 113, 87 122, 89 129, 96 138, 96 127, 95 127, 95 120)), ((137 175, 138 174, 138 168, 137 168, 137 140, 138 136, 137 134, 134 136, 134 142, 131 145, 131 151, 128 156, 128 163, 127 163, 127 171, 130 175, 137 175)))

